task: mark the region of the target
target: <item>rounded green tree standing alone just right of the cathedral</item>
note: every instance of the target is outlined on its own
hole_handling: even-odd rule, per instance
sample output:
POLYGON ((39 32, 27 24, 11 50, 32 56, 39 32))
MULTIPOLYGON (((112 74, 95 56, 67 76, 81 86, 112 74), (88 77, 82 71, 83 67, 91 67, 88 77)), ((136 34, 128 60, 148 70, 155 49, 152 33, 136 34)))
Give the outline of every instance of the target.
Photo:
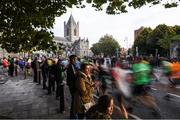
POLYGON ((96 55, 103 53, 105 56, 115 56, 117 48, 120 49, 120 45, 113 36, 105 35, 98 43, 93 44, 91 50, 96 55))

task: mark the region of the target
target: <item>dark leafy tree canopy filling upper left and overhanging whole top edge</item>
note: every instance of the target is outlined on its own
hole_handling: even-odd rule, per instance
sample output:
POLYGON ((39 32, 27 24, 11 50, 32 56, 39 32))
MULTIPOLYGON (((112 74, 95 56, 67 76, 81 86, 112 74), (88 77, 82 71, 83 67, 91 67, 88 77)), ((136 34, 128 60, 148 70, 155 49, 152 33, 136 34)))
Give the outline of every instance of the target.
MULTIPOLYGON (((178 2, 173 0, 172 3, 167 2, 163 5, 165 8, 176 7, 178 2)), ((48 49, 47 46, 53 43, 50 29, 53 28, 55 17, 66 13, 67 8, 73 6, 83 8, 85 3, 91 4, 96 10, 102 10, 106 4, 106 13, 118 14, 127 12, 127 7, 136 9, 146 4, 161 4, 162 0, 1 0, 1 47, 8 52, 20 52, 41 49, 40 44, 43 43, 43 49, 48 49), (42 31, 44 36, 48 35, 48 39, 37 42, 36 36, 42 31)))

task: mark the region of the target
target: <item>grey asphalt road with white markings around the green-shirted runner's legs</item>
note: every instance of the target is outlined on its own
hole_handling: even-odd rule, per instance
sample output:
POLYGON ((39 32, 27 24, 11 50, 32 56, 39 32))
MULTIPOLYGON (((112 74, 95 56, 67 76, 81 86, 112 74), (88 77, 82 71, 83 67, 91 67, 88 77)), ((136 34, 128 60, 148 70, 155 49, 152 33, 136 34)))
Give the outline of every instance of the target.
MULTIPOLYGON (((170 88, 169 81, 162 74, 162 70, 156 69, 158 81, 153 81, 150 94, 155 98, 157 105, 161 110, 163 119, 180 119, 180 85, 170 88), (167 97, 168 95, 168 97, 167 97)), ((134 106, 133 113, 141 119, 157 119, 150 109, 143 104, 134 106)))

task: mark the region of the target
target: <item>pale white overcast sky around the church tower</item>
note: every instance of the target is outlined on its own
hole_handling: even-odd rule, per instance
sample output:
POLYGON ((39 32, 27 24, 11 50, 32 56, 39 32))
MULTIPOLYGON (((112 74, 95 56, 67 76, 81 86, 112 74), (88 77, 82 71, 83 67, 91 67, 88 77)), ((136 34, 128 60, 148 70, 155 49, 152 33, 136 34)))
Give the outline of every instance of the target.
POLYGON ((159 24, 180 25, 180 7, 165 9, 161 5, 144 6, 118 15, 95 11, 91 6, 83 9, 74 7, 55 19, 52 30, 55 36, 64 36, 64 21, 67 23, 71 14, 76 22, 79 21, 80 37, 88 38, 90 47, 108 34, 112 35, 121 47, 130 48, 134 41, 134 30, 141 26, 154 29, 159 24))

